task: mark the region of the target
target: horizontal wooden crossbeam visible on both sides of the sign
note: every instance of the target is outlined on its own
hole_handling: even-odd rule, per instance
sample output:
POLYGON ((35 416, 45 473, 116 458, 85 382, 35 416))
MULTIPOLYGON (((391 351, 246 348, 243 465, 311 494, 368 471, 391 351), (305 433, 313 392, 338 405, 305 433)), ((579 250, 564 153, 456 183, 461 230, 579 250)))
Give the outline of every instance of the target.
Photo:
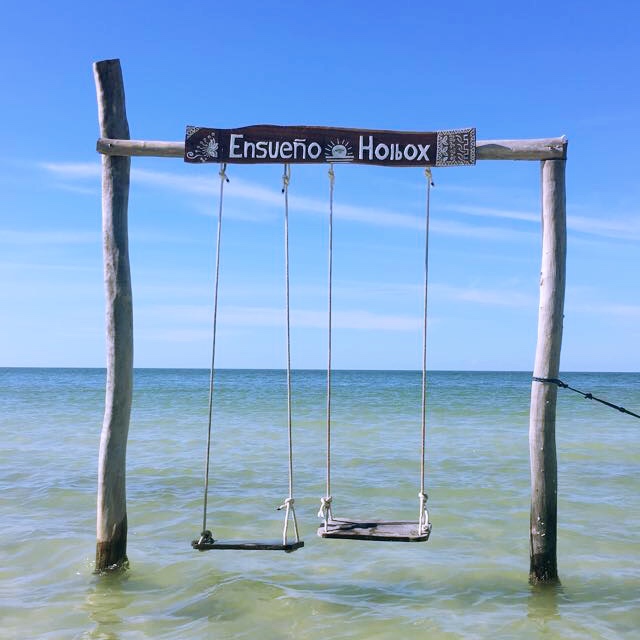
MULTIPOLYGON (((184 158, 184 142, 99 138, 96 149, 106 156, 184 158)), ((531 140, 478 140, 476 143, 478 160, 553 160, 566 156, 565 136, 531 140)))

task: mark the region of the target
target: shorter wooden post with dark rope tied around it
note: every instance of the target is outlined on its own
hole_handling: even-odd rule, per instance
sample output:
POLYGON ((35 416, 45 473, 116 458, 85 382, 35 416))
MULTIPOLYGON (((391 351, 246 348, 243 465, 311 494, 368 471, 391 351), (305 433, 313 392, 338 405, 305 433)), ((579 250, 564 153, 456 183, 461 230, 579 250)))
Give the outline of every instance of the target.
MULTIPOLYGON (((537 378, 557 378, 564 312, 567 254, 565 159, 542 164, 542 268, 538 344, 533 370, 537 378)), ((558 470, 556 461, 555 384, 533 381, 529 418, 531 530, 529 581, 557 583, 558 470)))

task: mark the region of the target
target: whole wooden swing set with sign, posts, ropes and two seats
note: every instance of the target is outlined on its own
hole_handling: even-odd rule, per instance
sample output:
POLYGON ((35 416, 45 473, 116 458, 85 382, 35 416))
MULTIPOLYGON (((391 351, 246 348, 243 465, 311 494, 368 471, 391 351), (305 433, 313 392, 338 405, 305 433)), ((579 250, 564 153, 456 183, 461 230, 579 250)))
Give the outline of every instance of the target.
POLYGON ((368 131, 326 127, 278 127, 259 125, 240 129, 187 127, 185 142, 129 139, 124 86, 118 60, 94 64, 98 94, 100 139, 97 150, 103 158, 103 248, 107 291, 107 389, 100 444, 98 474, 98 518, 96 571, 126 562, 127 516, 125 495, 125 451, 128 437, 133 379, 133 311, 128 258, 128 190, 130 156, 182 158, 192 163, 220 165, 220 197, 216 238, 214 320, 209 384, 208 436, 206 447, 203 522, 200 537, 192 542, 204 550, 295 551, 304 546, 298 533, 293 495, 293 446, 291 429, 291 340, 289 304, 289 185, 291 165, 329 165, 329 256, 328 256, 328 365, 326 390, 326 491, 318 516, 321 538, 421 542, 429 539, 431 522, 425 491, 427 292, 429 265, 429 208, 431 167, 472 165, 478 160, 539 160, 542 166, 542 268, 538 342, 531 390, 530 460, 531 528, 530 581, 556 582, 557 468, 555 452, 555 408, 557 387, 546 384, 559 373, 565 288, 566 138, 537 140, 476 141, 475 129, 438 132, 368 131), (288 496, 284 509, 282 540, 218 541, 207 529, 207 497, 214 422, 215 347, 220 283, 220 245, 224 186, 228 164, 279 163, 284 165, 284 247, 286 298, 286 365, 288 496), (426 177, 424 318, 422 350, 421 460, 418 517, 414 521, 350 520, 333 516, 331 495, 331 373, 332 373, 332 264, 334 165, 375 164, 422 167, 426 177), (289 525, 293 540, 289 537, 289 525))

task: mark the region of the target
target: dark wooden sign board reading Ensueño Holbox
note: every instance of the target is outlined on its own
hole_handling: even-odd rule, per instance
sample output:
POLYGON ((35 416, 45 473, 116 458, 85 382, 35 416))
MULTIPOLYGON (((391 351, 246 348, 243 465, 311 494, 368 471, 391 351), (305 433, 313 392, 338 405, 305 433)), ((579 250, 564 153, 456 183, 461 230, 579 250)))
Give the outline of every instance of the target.
POLYGON ((379 164, 449 167, 475 164, 476 130, 413 132, 255 125, 187 127, 185 162, 379 164))

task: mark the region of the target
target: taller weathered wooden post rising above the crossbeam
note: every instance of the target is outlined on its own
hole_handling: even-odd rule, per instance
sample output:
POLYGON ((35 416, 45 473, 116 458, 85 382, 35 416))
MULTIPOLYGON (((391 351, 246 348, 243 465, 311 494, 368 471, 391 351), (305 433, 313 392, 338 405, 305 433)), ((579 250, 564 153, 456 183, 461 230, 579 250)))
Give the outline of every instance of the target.
MULTIPOLYGON (((100 135, 129 138, 119 60, 93 65, 100 135)), ((133 312, 127 208, 131 159, 102 156, 107 386, 98 463, 96 572, 127 564, 126 453, 133 388, 133 312)))

